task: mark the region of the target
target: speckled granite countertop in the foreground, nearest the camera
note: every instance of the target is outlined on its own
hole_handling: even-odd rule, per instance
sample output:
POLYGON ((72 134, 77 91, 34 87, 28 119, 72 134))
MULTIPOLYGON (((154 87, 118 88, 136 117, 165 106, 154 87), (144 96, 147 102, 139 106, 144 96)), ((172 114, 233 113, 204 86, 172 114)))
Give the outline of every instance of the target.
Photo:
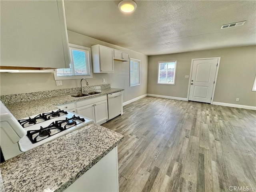
POLYGON ((62 192, 124 136, 91 123, 0 164, 5 192, 62 192))

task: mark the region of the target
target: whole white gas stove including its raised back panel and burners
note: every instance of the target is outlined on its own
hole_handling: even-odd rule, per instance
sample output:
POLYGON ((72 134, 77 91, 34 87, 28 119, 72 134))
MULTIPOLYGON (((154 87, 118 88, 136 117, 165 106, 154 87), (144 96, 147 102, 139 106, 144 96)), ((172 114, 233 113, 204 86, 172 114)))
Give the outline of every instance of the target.
POLYGON ((62 109, 19 120, 2 102, 0 110, 0 147, 5 160, 94 122, 62 109))

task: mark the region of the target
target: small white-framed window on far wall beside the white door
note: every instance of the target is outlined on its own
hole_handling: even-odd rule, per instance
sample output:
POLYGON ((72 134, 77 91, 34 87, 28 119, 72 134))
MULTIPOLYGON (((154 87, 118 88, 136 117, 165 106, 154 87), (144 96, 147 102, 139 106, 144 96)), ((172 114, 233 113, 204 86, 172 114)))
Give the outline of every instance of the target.
POLYGON ((175 85, 177 60, 158 62, 157 84, 175 85))

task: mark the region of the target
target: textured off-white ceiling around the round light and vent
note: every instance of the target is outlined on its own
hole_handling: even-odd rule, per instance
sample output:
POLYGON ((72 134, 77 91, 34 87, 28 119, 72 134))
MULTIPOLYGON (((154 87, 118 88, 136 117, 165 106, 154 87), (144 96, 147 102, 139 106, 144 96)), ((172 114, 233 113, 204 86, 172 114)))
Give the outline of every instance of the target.
POLYGON ((65 0, 67 28, 146 55, 256 44, 256 1, 135 2, 135 12, 123 14, 115 0, 65 0))

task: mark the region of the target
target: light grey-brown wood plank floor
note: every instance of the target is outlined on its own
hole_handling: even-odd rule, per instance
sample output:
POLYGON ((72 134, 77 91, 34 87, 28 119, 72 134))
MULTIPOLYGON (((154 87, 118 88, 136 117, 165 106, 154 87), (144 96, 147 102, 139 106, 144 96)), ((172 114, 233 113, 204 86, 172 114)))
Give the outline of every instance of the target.
POLYGON ((120 192, 256 190, 256 111, 145 97, 102 126, 125 136, 120 192))

